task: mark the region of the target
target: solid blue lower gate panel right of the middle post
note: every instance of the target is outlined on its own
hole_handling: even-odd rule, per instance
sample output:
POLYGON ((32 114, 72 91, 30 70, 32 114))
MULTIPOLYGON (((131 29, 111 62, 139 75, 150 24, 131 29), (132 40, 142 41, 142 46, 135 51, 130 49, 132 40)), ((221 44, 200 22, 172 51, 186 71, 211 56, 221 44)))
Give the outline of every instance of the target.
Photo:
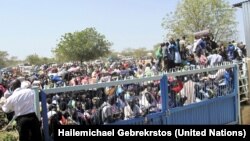
POLYGON ((172 111, 167 117, 168 125, 225 125, 237 122, 235 96, 213 99, 195 106, 172 111))

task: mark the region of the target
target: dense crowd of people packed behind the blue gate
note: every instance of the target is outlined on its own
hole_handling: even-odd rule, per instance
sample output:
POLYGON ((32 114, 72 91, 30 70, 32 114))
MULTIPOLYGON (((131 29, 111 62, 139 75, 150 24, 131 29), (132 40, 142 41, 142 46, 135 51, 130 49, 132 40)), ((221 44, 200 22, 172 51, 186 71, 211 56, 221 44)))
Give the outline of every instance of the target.
MULTIPOLYGON (((13 111, 6 111, 8 99, 13 97, 10 84, 20 80, 20 89, 39 86, 41 89, 88 85, 110 81, 143 78, 169 72, 179 67, 215 66, 219 63, 240 62, 246 56, 246 46, 235 41, 216 43, 210 37, 196 37, 194 44, 185 37, 169 38, 162 43, 151 60, 119 60, 101 63, 65 63, 36 67, 31 75, 2 72, 0 109, 7 112, 9 121, 13 111)), ((168 106, 175 108, 217 96, 233 90, 232 69, 212 73, 169 77, 168 106)), ((161 111, 160 80, 98 88, 92 90, 48 94, 47 110, 51 134, 56 124, 99 125, 119 120, 143 117, 161 111)), ((18 103, 17 103, 18 104, 18 103)), ((21 107, 22 108, 22 107, 21 107)), ((15 111, 16 112, 16 111, 15 111)), ((26 113, 25 113, 26 114, 26 113)))

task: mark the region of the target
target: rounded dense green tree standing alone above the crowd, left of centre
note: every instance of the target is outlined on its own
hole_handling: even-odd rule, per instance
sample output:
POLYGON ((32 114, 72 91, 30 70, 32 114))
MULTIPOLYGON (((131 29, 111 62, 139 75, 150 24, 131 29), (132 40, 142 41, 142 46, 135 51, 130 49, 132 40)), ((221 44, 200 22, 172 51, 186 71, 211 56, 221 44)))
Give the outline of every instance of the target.
POLYGON ((107 55, 111 45, 95 28, 86 28, 63 35, 53 52, 57 60, 82 63, 107 55))

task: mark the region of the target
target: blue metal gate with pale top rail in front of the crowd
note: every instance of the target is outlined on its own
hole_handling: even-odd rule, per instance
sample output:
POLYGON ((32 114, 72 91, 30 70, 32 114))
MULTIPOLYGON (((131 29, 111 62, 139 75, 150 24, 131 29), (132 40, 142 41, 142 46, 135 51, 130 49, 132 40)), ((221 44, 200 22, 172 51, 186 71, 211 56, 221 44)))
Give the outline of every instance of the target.
MULTIPOLYGON (((198 77, 199 78, 199 77, 198 77)), ((141 79, 123 80, 108 83, 98 83, 91 85, 75 86, 75 87, 63 87, 54 88, 41 91, 42 95, 42 118, 43 118, 43 130, 45 135, 45 140, 49 141, 49 125, 47 117, 47 104, 46 96, 49 94, 60 93, 60 92, 72 92, 79 90, 89 90, 104 88, 117 85, 125 85, 132 83, 141 83, 148 81, 160 80, 160 90, 161 90, 161 110, 158 112, 149 113, 145 116, 138 118, 132 118, 128 120, 119 120, 113 125, 185 125, 185 124, 237 124, 239 123, 239 97, 238 97, 238 66, 234 64, 227 64, 221 66, 215 66, 213 68, 196 68, 189 71, 186 70, 176 70, 172 73, 165 73, 159 76, 147 77, 141 79), (170 98, 172 92, 172 82, 169 81, 171 77, 179 78, 180 76, 189 76, 194 74, 200 75, 201 73, 207 73, 212 71, 225 70, 232 72, 232 80, 223 87, 219 87, 219 90, 214 90, 215 93, 212 97, 206 98, 204 96, 199 97, 199 101, 194 101, 188 104, 182 103, 181 105, 176 104, 171 107, 170 98), (227 90, 226 93, 222 93, 222 90, 227 90)), ((209 90, 204 88, 201 89, 204 93, 209 93, 209 90)), ((179 93, 179 92, 178 92, 179 93)), ((187 92, 184 92, 187 93, 187 92)), ((200 91, 196 91, 197 93, 200 91)), ((174 103, 176 103, 176 97, 183 97, 183 95, 174 94, 174 103)), ((172 98, 173 100, 173 98, 172 98)), ((180 101, 180 100, 179 100, 180 101)))

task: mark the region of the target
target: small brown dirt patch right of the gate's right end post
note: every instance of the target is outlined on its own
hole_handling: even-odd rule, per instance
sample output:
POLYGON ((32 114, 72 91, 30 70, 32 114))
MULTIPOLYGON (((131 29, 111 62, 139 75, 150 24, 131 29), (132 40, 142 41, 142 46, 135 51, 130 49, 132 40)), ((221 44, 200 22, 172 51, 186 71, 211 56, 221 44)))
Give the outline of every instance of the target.
POLYGON ((243 125, 250 125, 250 102, 242 104, 241 120, 243 125))

